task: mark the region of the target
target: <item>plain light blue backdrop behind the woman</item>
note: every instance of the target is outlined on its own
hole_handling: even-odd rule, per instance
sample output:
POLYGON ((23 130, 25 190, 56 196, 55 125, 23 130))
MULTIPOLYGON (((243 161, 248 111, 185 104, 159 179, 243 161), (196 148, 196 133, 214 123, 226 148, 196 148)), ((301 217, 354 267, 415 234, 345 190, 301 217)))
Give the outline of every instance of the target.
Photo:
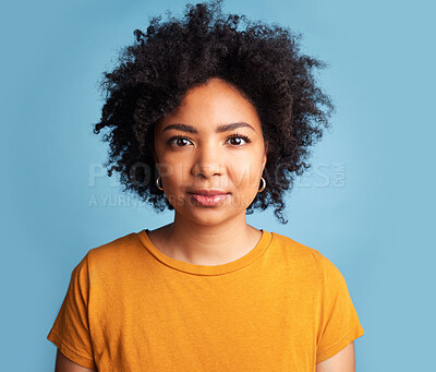
MULTIPOLYGON (((4 371, 52 371, 46 336, 73 267, 95 247, 172 221, 123 196, 92 133, 97 80, 148 16, 182 1, 22 1, 0 9, 0 271, 4 371), (93 175, 90 171, 97 171, 93 175), (25 357, 24 357, 25 356, 25 357)), ((435 7, 431 1, 226 1, 303 33, 330 64, 337 113, 288 197, 249 224, 319 250, 341 271, 365 335, 359 371, 433 368, 435 7), (432 25, 433 24, 433 25, 432 25)))

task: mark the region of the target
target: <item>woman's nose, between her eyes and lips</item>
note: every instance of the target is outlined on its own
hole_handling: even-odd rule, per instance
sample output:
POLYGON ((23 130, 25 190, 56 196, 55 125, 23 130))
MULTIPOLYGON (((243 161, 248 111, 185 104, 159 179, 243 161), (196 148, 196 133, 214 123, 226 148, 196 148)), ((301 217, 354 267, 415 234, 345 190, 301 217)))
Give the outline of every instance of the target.
POLYGON ((222 173, 223 156, 217 144, 204 144, 197 148, 192 173, 195 177, 211 178, 222 173))

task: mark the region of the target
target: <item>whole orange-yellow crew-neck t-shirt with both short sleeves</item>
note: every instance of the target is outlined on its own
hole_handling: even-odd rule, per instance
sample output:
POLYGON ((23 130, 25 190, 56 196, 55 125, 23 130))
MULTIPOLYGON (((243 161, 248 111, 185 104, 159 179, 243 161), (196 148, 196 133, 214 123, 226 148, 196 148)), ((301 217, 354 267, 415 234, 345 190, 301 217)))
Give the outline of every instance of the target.
POLYGON ((262 230, 216 266, 174 260, 148 229, 90 249, 47 338, 107 371, 312 372, 364 331, 339 269, 317 250, 262 230))

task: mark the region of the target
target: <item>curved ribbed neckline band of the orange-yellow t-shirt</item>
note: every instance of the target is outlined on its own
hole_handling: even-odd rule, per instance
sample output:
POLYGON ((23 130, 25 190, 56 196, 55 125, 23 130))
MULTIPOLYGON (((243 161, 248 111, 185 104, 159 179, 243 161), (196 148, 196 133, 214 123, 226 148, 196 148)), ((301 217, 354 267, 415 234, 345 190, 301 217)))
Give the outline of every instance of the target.
POLYGON ((148 237, 148 229, 143 229, 137 232, 137 238, 141 241, 142 245, 157 259, 160 263, 170 266, 172 268, 189 273, 189 274, 196 274, 196 275, 219 275, 219 274, 227 274, 234 271, 238 271, 246 265, 250 265, 256 259, 258 259, 265 251, 268 249, 271 240, 272 233, 261 229, 262 237, 257 244, 245 255, 239 257, 238 260, 228 262, 221 265, 196 265, 189 262, 179 261, 175 259, 170 257, 169 255, 165 254, 164 252, 159 251, 156 245, 152 242, 148 237))

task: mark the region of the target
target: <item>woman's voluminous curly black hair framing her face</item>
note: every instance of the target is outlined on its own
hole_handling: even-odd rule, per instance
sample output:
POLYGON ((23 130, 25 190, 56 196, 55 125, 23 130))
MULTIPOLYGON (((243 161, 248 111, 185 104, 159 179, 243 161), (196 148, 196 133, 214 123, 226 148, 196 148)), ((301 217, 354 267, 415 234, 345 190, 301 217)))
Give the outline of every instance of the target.
POLYGON ((277 24, 222 14, 222 0, 185 4, 185 13, 168 20, 150 16, 146 33, 135 29, 133 45, 123 47, 118 64, 104 72, 106 93, 100 122, 94 133, 109 128, 108 176, 120 175, 131 191, 155 209, 174 209, 156 187, 155 124, 173 111, 187 89, 218 77, 237 87, 256 108, 264 139, 269 141, 264 175, 267 188, 246 208, 275 205, 282 215, 284 192, 295 175, 311 167, 311 147, 330 127, 331 98, 317 86, 313 70, 327 64, 302 55, 302 35, 277 24), (245 25, 240 29, 241 23, 245 25))

